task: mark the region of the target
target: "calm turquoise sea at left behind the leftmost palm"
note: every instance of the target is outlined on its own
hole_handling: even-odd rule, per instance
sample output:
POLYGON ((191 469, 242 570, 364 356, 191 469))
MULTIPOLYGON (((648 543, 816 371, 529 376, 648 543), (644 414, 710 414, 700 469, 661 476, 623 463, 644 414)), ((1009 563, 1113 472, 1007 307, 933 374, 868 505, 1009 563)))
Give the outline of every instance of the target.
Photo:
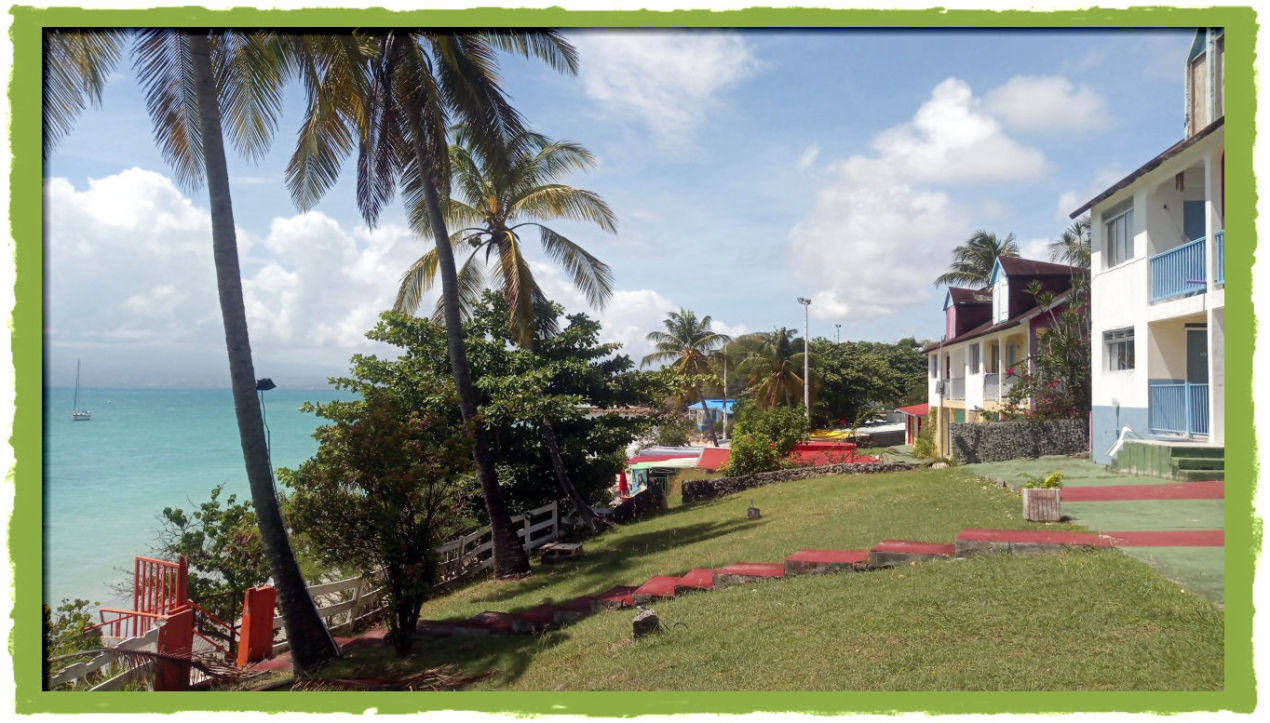
MULTIPOLYGON (((150 555, 164 507, 187 512, 217 484, 249 499, 234 400, 227 389, 81 389, 89 422, 71 422, 72 389, 44 390, 43 600, 131 607, 112 590, 150 555)), ((348 399, 331 389, 264 393, 273 466, 318 450, 321 419, 305 402, 348 399)))

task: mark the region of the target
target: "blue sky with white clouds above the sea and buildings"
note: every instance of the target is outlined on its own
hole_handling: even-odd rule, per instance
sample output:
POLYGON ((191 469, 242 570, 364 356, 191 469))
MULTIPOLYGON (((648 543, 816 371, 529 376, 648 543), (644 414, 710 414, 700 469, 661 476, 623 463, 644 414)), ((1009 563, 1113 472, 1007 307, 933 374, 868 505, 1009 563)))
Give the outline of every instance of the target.
MULTIPOLYGON (((1068 213, 1182 136, 1187 30, 569 30, 577 76, 503 57, 530 126, 583 144, 616 234, 558 231, 608 263, 587 306, 527 239, 535 274, 636 361, 667 313, 728 334, 894 342, 942 333, 933 280, 977 229, 1048 258, 1068 213), (841 324, 841 328, 838 327, 841 324), (801 332, 800 332, 801 333, 801 332)), ((351 164, 307 212, 283 186, 302 94, 271 152, 231 158, 257 376, 320 386, 425 249, 400 199, 375 229, 351 164)), ((155 147, 130 64, 44 168, 46 384, 227 386, 204 189, 155 147)), ((425 297, 431 310, 434 295, 425 297)))

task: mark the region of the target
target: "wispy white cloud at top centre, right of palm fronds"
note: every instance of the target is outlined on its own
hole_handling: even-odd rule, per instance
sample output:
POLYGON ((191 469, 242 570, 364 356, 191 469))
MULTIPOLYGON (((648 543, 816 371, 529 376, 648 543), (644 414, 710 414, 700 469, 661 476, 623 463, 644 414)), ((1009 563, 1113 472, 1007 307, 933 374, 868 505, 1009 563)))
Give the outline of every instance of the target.
POLYGON ((588 30, 570 39, 587 95, 613 117, 643 122, 665 149, 690 145, 719 97, 761 67, 730 32, 588 30))

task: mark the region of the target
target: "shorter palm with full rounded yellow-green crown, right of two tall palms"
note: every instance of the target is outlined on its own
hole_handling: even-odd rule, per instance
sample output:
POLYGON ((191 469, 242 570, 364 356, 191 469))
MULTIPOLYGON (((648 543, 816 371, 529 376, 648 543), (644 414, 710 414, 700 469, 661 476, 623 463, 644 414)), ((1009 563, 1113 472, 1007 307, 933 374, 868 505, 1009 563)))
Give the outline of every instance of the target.
MULTIPOLYGON (((558 183, 559 177, 572 170, 593 166, 594 156, 575 142, 551 141, 540 133, 522 131, 512 140, 512 149, 507 154, 511 168, 499 172, 494 165, 497 159, 485 156, 466 127, 458 126, 455 131, 455 144, 450 146, 450 165, 453 172, 451 191, 461 198, 450 197, 446 221, 453 226, 465 226, 450 235, 451 243, 456 247, 471 247, 467 260, 458 269, 460 309, 466 314, 479 301, 480 290, 485 286, 481 268, 484 250, 484 260, 495 266, 494 276, 507 299, 512 338, 521 348, 532 349, 535 330, 541 330, 535 323, 533 309, 546 302, 546 296, 538 288, 525 258, 519 229, 538 229, 542 248, 565 267, 573 276, 574 285, 583 290, 593 306, 602 309, 613 292, 613 277, 607 264, 541 222, 569 219, 592 221, 611 233, 617 230, 612 210, 599 196, 558 183)), ((418 208, 411 221, 422 234, 431 234, 432 229, 423 211, 424 208, 418 208)), ((436 276, 437 249, 433 248, 403 276, 395 309, 414 313, 419 307, 420 296, 432 287, 436 276)), ((433 314, 437 320, 444 313, 443 302, 444 299, 437 301, 433 314)), ((598 520, 569 479, 555 428, 547 418, 542 419, 542 441, 560 489, 582 521, 596 530, 598 520)))

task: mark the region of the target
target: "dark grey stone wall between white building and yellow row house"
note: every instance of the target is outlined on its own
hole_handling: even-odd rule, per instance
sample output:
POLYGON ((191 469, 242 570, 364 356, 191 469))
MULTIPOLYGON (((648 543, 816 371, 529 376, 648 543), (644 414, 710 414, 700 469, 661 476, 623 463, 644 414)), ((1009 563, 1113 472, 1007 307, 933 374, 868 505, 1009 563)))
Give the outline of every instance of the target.
POLYGON ((961 464, 997 463, 1090 450, 1085 419, 1029 419, 949 424, 952 459, 961 464))

